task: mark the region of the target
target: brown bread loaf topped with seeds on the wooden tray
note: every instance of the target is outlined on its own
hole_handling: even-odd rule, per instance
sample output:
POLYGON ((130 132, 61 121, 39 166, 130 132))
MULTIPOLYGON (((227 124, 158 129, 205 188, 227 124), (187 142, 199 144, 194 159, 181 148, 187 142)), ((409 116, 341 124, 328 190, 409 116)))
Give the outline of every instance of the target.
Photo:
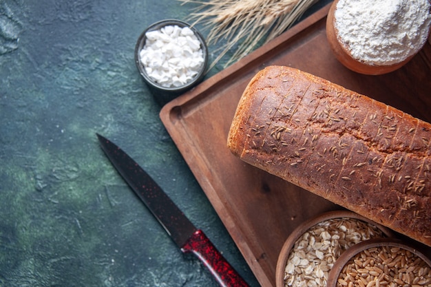
POLYGON ((291 67, 244 90, 229 149, 245 162, 431 246, 431 125, 291 67))

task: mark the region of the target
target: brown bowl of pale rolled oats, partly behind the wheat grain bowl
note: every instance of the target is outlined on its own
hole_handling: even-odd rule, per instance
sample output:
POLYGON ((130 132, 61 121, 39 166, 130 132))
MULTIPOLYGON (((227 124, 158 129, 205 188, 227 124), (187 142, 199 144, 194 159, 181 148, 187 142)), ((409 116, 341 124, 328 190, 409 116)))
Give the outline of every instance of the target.
POLYGON ((326 286, 335 261, 351 246, 392 237, 389 228, 351 211, 330 211, 303 222, 282 246, 275 270, 277 287, 326 286))

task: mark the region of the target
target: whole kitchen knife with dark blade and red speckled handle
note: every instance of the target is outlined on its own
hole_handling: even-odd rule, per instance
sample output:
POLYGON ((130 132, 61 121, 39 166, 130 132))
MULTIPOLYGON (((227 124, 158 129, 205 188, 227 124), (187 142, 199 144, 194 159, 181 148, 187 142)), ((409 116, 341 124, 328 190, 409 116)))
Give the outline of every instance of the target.
POLYGON ((182 253, 193 253, 222 287, 248 286, 202 230, 196 228, 158 184, 120 147, 96 134, 107 158, 162 224, 182 253))

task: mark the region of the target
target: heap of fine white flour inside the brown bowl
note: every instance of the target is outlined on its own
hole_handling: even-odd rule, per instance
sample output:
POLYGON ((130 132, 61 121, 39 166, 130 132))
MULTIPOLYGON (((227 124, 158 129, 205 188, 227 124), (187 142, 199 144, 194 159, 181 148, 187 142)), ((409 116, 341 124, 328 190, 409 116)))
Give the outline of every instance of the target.
POLYGON ((369 65, 408 59, 427 41, 430 23, 428 0, 339 0, 335 9, 339 41, 369 65))

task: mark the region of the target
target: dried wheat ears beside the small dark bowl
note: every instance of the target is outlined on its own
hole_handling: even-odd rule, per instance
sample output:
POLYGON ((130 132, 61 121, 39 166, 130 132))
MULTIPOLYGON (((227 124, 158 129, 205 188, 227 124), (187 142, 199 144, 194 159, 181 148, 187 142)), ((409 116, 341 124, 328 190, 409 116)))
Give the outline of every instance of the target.
POLYGON ((224 41, 210 69, 238 45, 226 66, 288 29, 318 0, 179 0, 198 4, 191 19, 209 29, 208 45, 224 41))

